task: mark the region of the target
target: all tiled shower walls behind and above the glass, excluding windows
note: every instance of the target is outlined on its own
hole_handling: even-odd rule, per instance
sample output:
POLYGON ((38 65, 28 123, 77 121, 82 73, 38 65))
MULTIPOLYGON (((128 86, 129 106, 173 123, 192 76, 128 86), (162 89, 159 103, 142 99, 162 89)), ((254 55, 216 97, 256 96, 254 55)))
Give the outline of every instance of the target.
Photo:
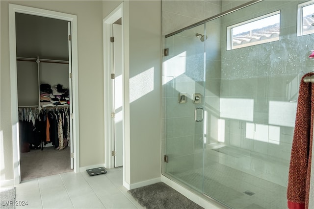
MULTIPOLYGON (((296 5, 304 1, 265 0, 205 25, 209 37, 204 130, 207 144, 224 142, 230 148, 216 153, 218 163, 282 186, 288 179, 299 81, 302 72, 313 70, 313 61, 307 58, 314 48, 313 34, 296 37, 296 5), (226 50, 226 26, 279 9, 281 41, 226 50)), ((162 1, 163 46, 164 35, 245 2, 162 1)), ((195 134, 202 127, 195 126, 191 112, 195 109, 191 95, 201 91, 204 79, 204 60, 198 56, 204 46, 195 35, 202 31, 204 28, 198 26, 167 39, 170 55, 163 56, 163 61, 171 62, 162 74, 162 155, 170 158, 169 163, 163 163, 163 173, 183 172, 203 163, 202 136, 195 134), (169 70, 170 65, 174 71, 169 70), (179 92, 188 93, 187 104, 179 104, 179 92)))

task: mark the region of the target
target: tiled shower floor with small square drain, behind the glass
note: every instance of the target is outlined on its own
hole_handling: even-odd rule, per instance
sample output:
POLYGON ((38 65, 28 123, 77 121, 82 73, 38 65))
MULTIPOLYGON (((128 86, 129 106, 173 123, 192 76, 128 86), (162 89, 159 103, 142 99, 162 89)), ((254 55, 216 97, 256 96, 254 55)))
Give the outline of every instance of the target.
MULTIPOLYGON (((202 168, 174 176, 202 191, 202 168)), ((286 192, 287 187, 223 164, 212 163, 204 169, 204 193, 234 209, 285 209, 286 192)))

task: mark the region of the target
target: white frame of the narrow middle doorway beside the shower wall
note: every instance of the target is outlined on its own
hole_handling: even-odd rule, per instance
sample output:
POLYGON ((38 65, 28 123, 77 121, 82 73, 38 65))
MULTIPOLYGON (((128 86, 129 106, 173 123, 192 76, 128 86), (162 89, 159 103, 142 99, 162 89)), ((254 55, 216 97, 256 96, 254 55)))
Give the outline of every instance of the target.
POLYGON ((114 167, 114 156, 111 151, 114 145, 113 127, 111 122, 112 110, 112 85, 111 70, 113 69, 112 44, 110 36, 112 24, 122 19, 122 79, 123 79, 123 102, 122 102, 122 146, 123 146, 123 186, 130 189, 130 89, 129 89, 129 2, 124 1, 118 5, 103 20, 104 32, 104 108, 105 108, 105 167, 114 167))

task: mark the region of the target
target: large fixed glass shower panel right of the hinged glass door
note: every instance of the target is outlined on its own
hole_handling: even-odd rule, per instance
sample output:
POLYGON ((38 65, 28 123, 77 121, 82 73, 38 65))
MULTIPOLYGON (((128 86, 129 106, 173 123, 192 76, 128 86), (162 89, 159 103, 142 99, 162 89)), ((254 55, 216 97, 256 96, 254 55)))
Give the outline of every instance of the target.
POLYGON ((314 67, 298 6, 260 1, 205 23, 204 194, 230 208, 287 208, 298 87, 314 67))

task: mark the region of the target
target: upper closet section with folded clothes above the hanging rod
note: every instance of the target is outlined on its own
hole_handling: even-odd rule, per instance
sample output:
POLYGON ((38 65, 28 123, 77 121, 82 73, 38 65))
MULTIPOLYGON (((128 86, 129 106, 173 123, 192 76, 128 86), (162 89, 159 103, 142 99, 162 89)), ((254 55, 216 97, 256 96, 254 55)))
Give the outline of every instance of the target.
POLYGON ((19 107, 31 105, 42 109, 69 105, 69 61, 39 56, 17 57, 17 61, 22 61, 17 63, 19 107))

